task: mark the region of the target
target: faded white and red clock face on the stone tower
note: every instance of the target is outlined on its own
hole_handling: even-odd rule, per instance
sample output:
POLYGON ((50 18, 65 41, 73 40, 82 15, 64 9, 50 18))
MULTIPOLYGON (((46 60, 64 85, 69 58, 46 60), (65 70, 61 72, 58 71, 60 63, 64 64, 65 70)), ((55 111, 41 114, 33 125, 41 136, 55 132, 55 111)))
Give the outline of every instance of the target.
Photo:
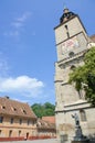
POLYGON ((67 40, 62 44, 62 54, 68 53, 71 51, 74 51, 76 47, 78 47, 78 41, 75 37, 67 40))

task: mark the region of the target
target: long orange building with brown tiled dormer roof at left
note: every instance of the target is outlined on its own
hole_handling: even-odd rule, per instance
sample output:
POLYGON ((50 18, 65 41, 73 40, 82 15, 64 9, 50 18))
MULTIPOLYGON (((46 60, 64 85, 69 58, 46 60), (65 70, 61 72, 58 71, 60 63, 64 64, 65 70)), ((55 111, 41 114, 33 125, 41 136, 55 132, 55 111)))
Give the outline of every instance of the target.
POLYGON ((0 98, 0 141, 36 136, 36 117, 28 103, 0 98))

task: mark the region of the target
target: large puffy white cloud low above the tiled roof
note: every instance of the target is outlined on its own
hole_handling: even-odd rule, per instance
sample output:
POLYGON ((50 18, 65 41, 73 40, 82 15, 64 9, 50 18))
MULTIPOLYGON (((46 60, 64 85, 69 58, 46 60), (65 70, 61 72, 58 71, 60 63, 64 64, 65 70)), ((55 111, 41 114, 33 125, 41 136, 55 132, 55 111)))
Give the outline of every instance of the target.
POLYGON ((0 92, 20 94, 24 97, 38 97, 44 84, 36 78, 19 76, 17 78, 0 78, 0 92))

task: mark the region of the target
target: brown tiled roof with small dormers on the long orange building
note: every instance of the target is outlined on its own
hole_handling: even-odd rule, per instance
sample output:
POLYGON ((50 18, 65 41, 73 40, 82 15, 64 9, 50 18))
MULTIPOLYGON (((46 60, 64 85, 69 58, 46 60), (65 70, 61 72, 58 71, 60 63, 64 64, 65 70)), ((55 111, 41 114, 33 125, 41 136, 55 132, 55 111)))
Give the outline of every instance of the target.
POLYGON ((28 103, 0 97, 0 114, 18 116, 36 119, 34 112, 28 103))

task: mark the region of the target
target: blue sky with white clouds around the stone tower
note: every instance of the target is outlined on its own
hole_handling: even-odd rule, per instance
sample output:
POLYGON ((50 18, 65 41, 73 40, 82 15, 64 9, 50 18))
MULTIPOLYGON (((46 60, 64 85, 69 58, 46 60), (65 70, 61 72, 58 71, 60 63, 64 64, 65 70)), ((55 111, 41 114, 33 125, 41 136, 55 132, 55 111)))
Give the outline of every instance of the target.
POLYGON ((95 0, 0 1, 0 96, 55 103, 54 28, 66 6, 95 34, 95 0))

